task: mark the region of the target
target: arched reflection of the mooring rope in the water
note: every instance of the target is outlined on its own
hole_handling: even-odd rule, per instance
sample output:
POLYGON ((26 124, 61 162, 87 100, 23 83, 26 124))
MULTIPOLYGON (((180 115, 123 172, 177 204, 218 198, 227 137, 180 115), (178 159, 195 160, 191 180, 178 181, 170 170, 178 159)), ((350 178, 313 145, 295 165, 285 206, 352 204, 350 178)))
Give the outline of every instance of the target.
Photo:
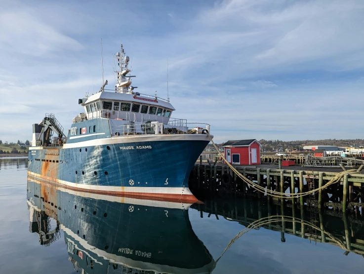
MULTIPOLYGON (((310 226, 318 231, 323 232, 324 234, 326 234, 328 236, 329 239, 331 239, 333 242, 335 242, 338 246, 340 246, 341 249, 345 250, 345 251, 349 251, 349 252, 353 252, 352 250, 347 249, 347 247, 345 246, 345 244, 340 241, 339 239, 335 238, 334 236, 332 236, 330 233, 328 233, 325 230, 322 230, 321 228, 313 225, 310 222, 301 220, 301 219, 297 219, 294 218, 292 216, 284 216, 284 215, 274 215, 274 216, 269 216, 269 217, 265 217, 259 220, 256 220, 254 222, 252 222, 251 224, 249 224, 247 227, 245 227, 242 231, 240 231, 234 238, 232 238, 229 242, 229 244, 227 245, 227 247, 224 249, 224 251, 222 252, 222 254, 220 255, 219 258, 217 258, 217 260, 215 261, 212 270, 215 269, 217 262, 221 259, 221 257, 225 254, 225 252, 230 248, 230 246, 241 236, 243 236, 245 233, 248 233, 249 231, 255 229, 256 227, 260 227, 263 225, 268 225, 270 223, 274 223, 274 222, 297 222, 300 224, 304 224, 307 226, 310 226)), ((304 232, 301 232, 304 233, 304 232)), ((356 252, 354 252, 356 253, 356 252)))

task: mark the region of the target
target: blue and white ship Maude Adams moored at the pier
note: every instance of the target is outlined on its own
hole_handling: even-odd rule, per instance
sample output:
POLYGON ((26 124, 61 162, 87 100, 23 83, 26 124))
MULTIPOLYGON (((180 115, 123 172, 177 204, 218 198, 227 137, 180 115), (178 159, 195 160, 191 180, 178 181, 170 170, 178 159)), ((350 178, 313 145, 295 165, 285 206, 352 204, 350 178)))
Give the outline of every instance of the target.
POLYGON ((33 124, 29 175, 92 193, 197 200, 188 177, 210 126, 171 118, 169 98, 135 92, 122 45, 115 58, 115 89, 106 80, 79 99, 84 112, 67 137, 53 114, 33 124))

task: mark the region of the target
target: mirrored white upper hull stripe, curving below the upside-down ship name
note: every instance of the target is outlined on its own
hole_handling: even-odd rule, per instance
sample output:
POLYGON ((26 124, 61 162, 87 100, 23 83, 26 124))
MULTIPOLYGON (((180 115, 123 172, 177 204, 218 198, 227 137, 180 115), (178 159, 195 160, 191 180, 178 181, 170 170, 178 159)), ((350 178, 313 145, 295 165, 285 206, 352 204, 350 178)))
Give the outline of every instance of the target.
POLYGON ((109 260, 110 263, 120 264, 129 268, 136 268, 145 271, 157 271, 159 273, 196 274, 196 273, 209 273, 212 270, 212 265, 214 264, 214 261, 212 260, 208 265, 205 265, 204 267, 199 269, 182 269, 178 267, 135 261, 129 258, 118 256, 116 254, 108 253, 104 250, 98 249, 88 244, 86 240, 82 239, 79 235, 73 233, 70 229, 66 228, 62 224, 61 224, 61 229, 68 235, 77 239, 84 249, 92 250, 92 252, 96 253, 98 256, 104 258, 105 260, 109 260))

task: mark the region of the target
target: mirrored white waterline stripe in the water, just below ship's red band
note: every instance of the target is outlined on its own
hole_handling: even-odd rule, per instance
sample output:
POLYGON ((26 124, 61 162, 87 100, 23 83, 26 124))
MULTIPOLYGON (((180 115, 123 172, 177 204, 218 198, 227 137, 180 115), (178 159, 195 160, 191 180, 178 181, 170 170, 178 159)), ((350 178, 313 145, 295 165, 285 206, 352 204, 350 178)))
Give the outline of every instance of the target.
POLYGON ((96 200, 104 200, 109 202, 120 202, 134 205, 142 205, 142 206, 151 206, 151 207, 164 207, 164 208, 176 208, 176 209, 188 209, 192 203, 182 203, 182 202, 170 202, 170 201, 159 201, 159 200, 149 200, 149 199, 137 199, 130 197, 120 197, 113 195, 104 195, 104 194, 94 194, 91 192, 82 192, 82 191, 73 191, 70 189, 66 189, 63 187, 57 187, 48 183, 44 183, 38 180, 32 180, 38 184, 45 184, 51 188, 60 190, 62 192, 69 193, 75 196, 81 196, 84 198, 91 198, 96 200))

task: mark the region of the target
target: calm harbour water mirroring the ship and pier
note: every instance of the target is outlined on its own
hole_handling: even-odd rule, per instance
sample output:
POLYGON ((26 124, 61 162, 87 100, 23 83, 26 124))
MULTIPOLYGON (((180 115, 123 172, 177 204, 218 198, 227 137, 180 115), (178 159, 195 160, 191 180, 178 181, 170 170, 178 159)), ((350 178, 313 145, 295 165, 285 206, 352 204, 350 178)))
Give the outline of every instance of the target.
MULTIPOLYGON (((296 235, 291 235, 289 220, 243 234, 218 260, 246 225, 269 213, 292 216, 288 206, 220 197, 183 210, 188 205, 67 192, 27 181, 27 164, 26 159, 0 159, 1 274, 155 273, 151 270, 156 269, 164 273, 364 273, 362 255, 346 256, 339 246, 302 238, 300 223, 295 225, 296 235)), ((296 218, 300 214, 296 209, 296 218)), ((349 237, 358 245, 355 252, 364 251, 363 218, 332 215, 317 213, 315 224, 320 227, 321 218, 324 230, 344 246, 349 237)), ((313 218, 306 211, 303 216, 313 218)), ((307 225, 304 229, 322 235, 307 225)), ((330 241, 327 235, 326 241, 330 241)))

